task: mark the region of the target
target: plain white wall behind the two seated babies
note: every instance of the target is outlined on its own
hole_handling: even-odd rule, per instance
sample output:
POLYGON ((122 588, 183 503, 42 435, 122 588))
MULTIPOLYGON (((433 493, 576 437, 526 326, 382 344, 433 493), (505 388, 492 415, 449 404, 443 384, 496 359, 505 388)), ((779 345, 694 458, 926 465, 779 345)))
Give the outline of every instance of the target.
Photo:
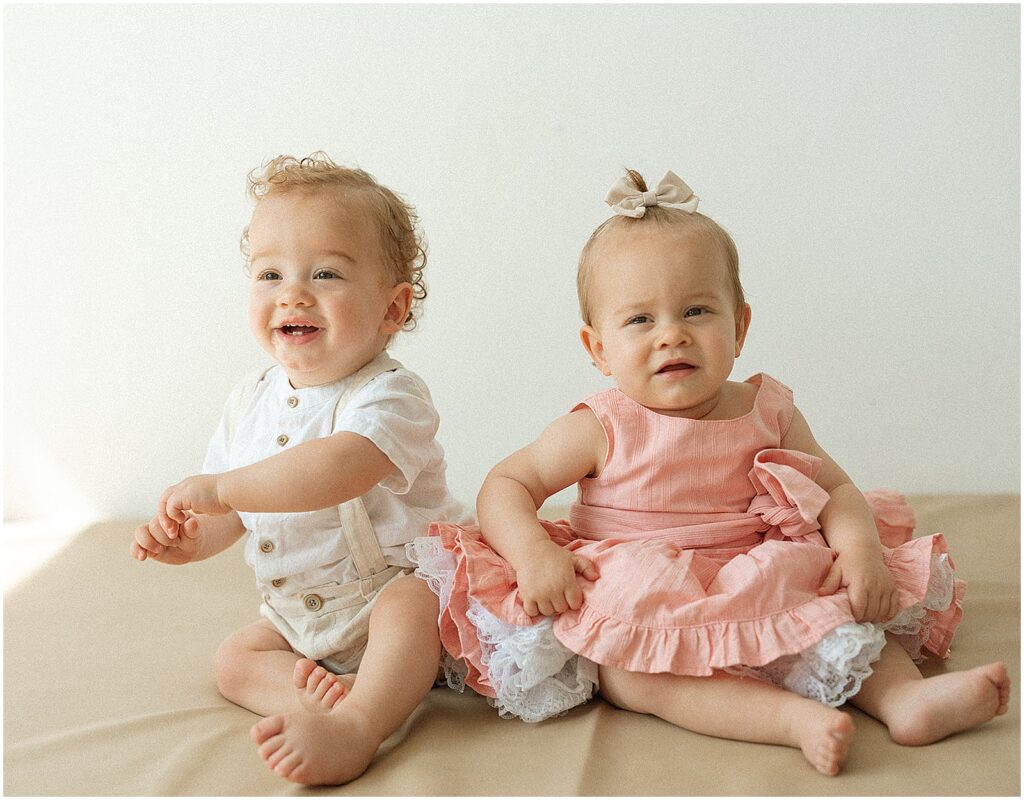
MULTIPOLYGON (((246 327, 246 173, 326 150, 431 245, 394 354, 451 483, 603 379, 575 259, 626 165, 734 236, 737 377, 862 488, 1020 486, 1020 9, 7 6, 6 516, 148 516, 201 464, 246 327)), ((568 500, 571 492, 556 500, 568 500)))

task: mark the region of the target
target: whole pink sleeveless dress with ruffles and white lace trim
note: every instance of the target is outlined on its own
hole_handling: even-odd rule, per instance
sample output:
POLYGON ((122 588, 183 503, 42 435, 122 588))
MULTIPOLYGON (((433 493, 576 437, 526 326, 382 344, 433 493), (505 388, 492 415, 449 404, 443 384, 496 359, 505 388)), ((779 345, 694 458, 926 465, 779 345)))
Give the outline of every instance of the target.
POLYGON ((441 600, 445 671, 503 716, 538 721, 586 702, 596 665, 633 672, 751 675, 839 706, 879 658, 887 631, 915 659, 948 654, 965 584, 941 534, 911 539, 913 512, 892 491, 865 495, 899 590, 886 624, 857 623, 845 589, 817 589, 834 552, 817 516, 828 495, 816 457, 779 445, 793 419, 788 388, 767 375, 753 410, 731 420, 656 414, 617 389, 584 406, 608 453, 580 481, 570 517, 542 521, 590 559, 584 603, 530 618, 515 572, 478 528, 431 525, 409 553, 441 600))

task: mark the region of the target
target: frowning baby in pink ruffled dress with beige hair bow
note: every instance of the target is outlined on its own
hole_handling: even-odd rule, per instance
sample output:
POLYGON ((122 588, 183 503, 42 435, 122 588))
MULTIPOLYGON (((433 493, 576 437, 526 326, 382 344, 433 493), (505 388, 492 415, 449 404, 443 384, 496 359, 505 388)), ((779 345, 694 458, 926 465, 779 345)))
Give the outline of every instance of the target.
POLYGON ((941 534, 862 495, 788 388, 729 380, 751 322, 729 235, 673 173, 630 170, 578 286, 584 346, 615 388, 487 475, 479 528, 409 546, 440 598, 451 685, 537 721, 595 689, 711 735, 800 748, 839 772, 851 702, 903 745, 1005 714, 1002 664, 923 678, 962 610, 941 534), (579 483, 568 521, 538 519, 579 483))

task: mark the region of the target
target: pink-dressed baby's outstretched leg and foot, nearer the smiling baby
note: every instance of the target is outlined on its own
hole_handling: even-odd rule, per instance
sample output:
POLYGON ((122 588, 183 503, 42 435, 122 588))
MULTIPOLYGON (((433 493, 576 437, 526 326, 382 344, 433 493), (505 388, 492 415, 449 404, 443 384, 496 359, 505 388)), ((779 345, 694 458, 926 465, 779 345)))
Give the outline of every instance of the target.
POLYGON ((754 678, 645 674, 600 668, 601 694, 697 733, 799 748, 825 775, 839 772, 853 741, 849 714, 754 678))

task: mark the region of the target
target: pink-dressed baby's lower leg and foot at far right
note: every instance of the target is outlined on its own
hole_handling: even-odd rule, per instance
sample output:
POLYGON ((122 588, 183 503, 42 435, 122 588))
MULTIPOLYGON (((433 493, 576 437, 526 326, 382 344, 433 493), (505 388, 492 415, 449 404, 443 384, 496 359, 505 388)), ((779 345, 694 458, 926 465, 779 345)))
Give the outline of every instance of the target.
POLYGON ((1010 676, 1001 662, 931 678, 922 676, 892 636, 873 672, 850 702, 884 722, 893 742, 930 745, 1006 714, 1010 676))

